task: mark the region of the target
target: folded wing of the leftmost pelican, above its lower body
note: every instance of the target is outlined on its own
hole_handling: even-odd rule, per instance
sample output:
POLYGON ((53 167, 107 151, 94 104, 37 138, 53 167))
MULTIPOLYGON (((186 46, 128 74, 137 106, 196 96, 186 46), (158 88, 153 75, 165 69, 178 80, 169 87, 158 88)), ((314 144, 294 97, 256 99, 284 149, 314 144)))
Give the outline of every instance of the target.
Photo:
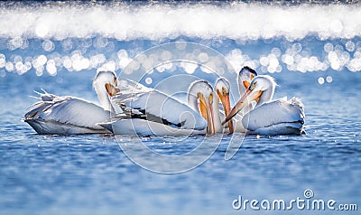
POLYGON ((110 113, 94 103, 82 98, 58 97, 41 94, 42 100, 34 103, 25 114, 26 120, 40 119, 59 124, 103 129, 98 122, 106 121, 110 113))

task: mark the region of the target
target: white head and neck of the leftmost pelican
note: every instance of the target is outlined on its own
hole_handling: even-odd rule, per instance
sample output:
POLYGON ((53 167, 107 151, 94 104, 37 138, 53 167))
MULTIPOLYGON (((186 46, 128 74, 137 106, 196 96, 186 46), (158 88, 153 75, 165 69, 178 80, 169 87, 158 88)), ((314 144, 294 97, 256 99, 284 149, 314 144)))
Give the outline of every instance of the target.
POLYGON ((117 89, 116 86, 117 79, 115 72, 104 70, 97 71, 97 74, 93 79, 93 88, 97 92, 97 98, 99 98, 102 107, 106 110, 112 110, 108 96, 113 97, 119 92, 119 89, 117 89))

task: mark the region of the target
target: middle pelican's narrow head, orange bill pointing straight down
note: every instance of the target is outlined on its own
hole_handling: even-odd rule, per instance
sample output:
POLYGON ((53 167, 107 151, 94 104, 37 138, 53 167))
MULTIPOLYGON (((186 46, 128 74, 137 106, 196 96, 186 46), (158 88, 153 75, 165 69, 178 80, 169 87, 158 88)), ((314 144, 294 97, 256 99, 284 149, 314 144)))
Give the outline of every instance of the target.
MULTIPOLYGON (((230 91, 229 81, 224 77, 219 77, 216 80, 215 88, 218 94, 218 98, 220 99, 223 109, 225 110, 225 114, 227 116, 231 111, 231 105, 229 102, 229 91, 230 91)), ((234 132, 232 120, 228 121, 228 127, 229 127, 229 133, 232 134, 234 132)))

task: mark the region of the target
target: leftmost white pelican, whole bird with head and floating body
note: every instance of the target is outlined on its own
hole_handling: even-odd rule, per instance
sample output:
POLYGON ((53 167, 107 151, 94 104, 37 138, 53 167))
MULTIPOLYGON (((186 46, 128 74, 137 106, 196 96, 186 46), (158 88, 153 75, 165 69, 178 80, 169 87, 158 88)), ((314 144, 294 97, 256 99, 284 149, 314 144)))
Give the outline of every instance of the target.
POLYGON ((101 107, 82 98, 55 96, 44 91, 38 93, 40 101, 34 103, 25 114, 27 122, 38 134, 90 134, 108 133, 96 124, 106 121, 114 111, 108 95, 115 95, 116 74, 98 71, 93 87, 101 107))

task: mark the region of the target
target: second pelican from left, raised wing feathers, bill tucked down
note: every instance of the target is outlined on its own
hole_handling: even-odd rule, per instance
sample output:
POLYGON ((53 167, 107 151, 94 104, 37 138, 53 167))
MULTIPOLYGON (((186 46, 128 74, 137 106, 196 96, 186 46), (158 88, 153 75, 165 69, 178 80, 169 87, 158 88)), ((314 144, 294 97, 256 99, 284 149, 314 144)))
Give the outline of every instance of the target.
MULTIPOLYGON (((99 123, 99 126, 115 135, 188 136, 214 133, 210 104, 213 98, 199 84, 191 85, 191 92, 199 90, 194 94, 195 97, 189 97, 188 106, 156 89, 146 88, 133 80, 127 82, 121 87, 120 93, 112 98, 112 102, 122 108, 123 113, 108 122, 99 123), (196 108, 198 100, 200 113, 196 108)), ((221 129, 220 120, 218 125, 221 129)))

